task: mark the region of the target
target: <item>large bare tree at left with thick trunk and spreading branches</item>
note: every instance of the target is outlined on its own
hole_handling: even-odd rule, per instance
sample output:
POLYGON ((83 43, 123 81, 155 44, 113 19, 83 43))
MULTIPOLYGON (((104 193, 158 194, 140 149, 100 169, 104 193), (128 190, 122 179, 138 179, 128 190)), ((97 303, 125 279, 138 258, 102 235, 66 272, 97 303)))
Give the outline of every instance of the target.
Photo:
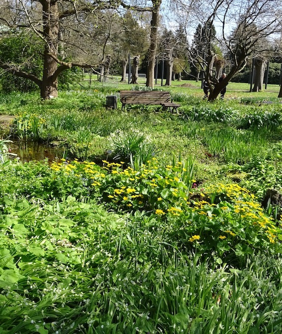
MULTIPOLYGON (((5 0, 0 2, 0 22, 16 29, 25 28, 26 31, 35 33, 44 43, 43 73, 42 77, 36 77, 21 70, 20 65, 7 64, 0 61, 0 67, 16 76, 30 79, 40 88, 40 95, 43 99, 50 99, 58 96, 58 77, 66 69, 74 66, 91 68, 96 63, 82 63, 79 61, 69 61, 64 59, 64 53, 58 51, 59 45, 64 45, 65 50, 74 50, 73 59, 78 59, 76 55, 84 53, 90 49, 90 41, 93 31, 98 28, 98 18, 90 20, 95 12, 101 9, 113 8, 116 4, 113 1, 68 1, 68 0, 5 0), (91 23, 85 34, 87 23, 91 23), (70 31, 72 31, 70 33, 70 31), (76 37, 76 38, 74 38, 76 37), (88 37, 88 42, 86 41, 88 37), (68 47, 69 49, 68 49, 68 47)), ((85 57, 87 59, 87 57, 85 57)))

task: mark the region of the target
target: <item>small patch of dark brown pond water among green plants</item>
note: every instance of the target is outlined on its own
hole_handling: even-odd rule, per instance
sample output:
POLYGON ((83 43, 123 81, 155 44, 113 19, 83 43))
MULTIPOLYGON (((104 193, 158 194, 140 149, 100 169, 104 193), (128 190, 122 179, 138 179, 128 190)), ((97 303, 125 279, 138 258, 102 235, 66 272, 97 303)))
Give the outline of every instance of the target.
POLYGON ((16 154, 21 161, 44 160, 49 162, 58 160, 64 156, 64 150, 58 147, 51 147, 44 143, 37 142, 13 142, 9 145, 11 153, 16 154))

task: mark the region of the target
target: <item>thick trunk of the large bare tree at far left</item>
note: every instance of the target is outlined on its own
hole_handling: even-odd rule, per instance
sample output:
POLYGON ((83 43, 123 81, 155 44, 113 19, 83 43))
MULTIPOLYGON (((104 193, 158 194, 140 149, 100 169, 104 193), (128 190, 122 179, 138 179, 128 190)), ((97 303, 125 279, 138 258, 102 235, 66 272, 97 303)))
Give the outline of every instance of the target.
POLYGON ((43 6, 43 35, 46 40, 44 50, 44 67, 40 96, 42 99, 51 99, 58 96, 58 76, 55 72, 57 62, 50 54, 58 56, 59 12, 57 1, 42 1, 43 6))

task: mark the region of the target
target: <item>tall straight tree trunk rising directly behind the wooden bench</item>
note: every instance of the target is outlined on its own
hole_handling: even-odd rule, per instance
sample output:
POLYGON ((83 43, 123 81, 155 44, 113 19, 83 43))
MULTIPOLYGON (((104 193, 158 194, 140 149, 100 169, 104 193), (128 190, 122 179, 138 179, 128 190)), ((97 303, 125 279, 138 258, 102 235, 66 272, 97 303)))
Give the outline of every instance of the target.
POLYGON ((151 32, 150 32, 150 47, 148 52, 148 68, 147 68, 147 81, 146 86, 154 88, 154 69, 155 58, 158 46, 158 26, 160 19, 160 6, 161 0, 152 0, 153 11, 151 20, 151 32))

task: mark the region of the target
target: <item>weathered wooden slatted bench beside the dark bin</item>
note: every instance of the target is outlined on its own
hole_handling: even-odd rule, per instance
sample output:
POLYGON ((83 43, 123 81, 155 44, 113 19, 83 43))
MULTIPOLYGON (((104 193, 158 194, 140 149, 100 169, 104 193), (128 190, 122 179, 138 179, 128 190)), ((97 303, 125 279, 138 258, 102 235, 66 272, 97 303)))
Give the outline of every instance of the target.
POLYGON ((120 91, 122 108, 125 105, 161 105, 163 109, 177 111, 179 104, 173 103, 170 92, 162 91, 120 91))

